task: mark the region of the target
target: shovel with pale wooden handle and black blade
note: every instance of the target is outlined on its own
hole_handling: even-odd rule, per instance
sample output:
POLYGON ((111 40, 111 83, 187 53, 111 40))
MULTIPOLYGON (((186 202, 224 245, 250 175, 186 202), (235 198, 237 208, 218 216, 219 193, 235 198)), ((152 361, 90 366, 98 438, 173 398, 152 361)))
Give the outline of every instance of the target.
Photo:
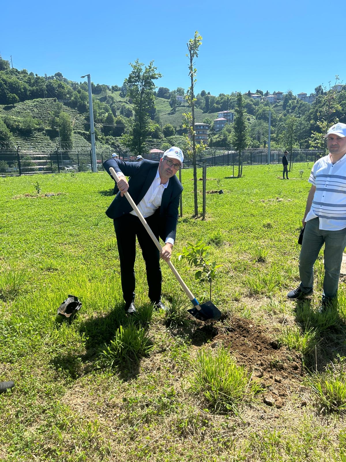
MULTIPOLYGON (((116 182, 119 182, 119 176, 116 174, 115 170, 113 167, 109 169, 109 172, 113 176, 116 182)), ((160 253, 162 252, 162 247, 159 243, 159 241, 156 239, 153 231, 151 231, 148 223, 145 221, 142 213, 140 213, 137 205, 134 203, 133 199, 129 195, 129 193, 126 191, 125 193, 126 199, 129 201, 131 207, 133 210, 137 213, 137 217, 141 220, 144 228, 147 230, 149 236, 153 240, 154 244, 156 245, 157 249, 159 249, 160 253)), ((167 261, 167 265, 171 268, 172 273, 174 276, 177 278, 180 286, 182 286, 184 292, 186 295, 190 298, 192 304, 194 305, 194 308, 191 308, 191 310, 188 310, 188 312, 194 316, 195 318, 199 319, 200 321, 218 321, 221 318, 221 311, 216 308, 216 306, 212 302, 206 302, 200 305, 195 298, 195 296, 192 294, 188 286, 186 286, 185 282, 181 279, 180 274, 178 271, 175 269, 173 266, 173 263, 171 261, 167 261)))

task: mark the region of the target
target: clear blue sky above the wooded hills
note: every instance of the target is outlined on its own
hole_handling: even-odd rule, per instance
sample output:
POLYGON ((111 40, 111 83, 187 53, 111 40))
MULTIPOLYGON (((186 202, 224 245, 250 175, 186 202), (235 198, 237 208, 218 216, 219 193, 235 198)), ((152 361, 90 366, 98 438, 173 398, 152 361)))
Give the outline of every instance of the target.
POLYGON ((346 83, 343 13, 320 0, 274 2, 10 2, 1 7, 0 53, 13 67, 121 85, 129 62, 154 60, 170 90, 189 85, 186 43, 203 37, 197 92, 314 91, 346 83), (5 20, 6 18, 6 20, 5 20), (191 19, 192 18, 192 19, 191 19), (338 56, 339 55, 339 56, 338 56))

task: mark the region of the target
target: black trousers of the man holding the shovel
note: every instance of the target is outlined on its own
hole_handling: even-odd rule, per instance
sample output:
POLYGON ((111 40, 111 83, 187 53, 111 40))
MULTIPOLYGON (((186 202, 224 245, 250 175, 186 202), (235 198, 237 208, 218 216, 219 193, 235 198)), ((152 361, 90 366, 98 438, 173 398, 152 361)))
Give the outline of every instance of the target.
MULTIPOLYGON (((128 306, 135 299, 134 265, 136 259, 136 236, 145 261, 149 298, 153 303, 159 302, 161 299, 162 283, 159 250, 138 217, 128 213, 123 217, 114 219, 113 222, 117 237, 121 288, 123 290, 125 305, 128 306)), ((159 214, 154 213, 154 215, 146 218, 146 222, 155 234, 155 237, 159 239, 159 214)))

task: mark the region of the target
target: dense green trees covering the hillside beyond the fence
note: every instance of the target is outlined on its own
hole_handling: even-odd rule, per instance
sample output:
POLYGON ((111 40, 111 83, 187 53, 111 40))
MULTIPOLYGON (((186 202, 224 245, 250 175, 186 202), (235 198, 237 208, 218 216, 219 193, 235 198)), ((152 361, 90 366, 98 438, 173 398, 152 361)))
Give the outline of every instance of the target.
MULTIPOLYGON (((150 67, 144 67, 143 63, 138 64, 138 73, 145 72, 150 67), (140 66, 141 65, 141 66, 140 66)), ((157 74, 159 75, 159 74, 157 74)), ((137 75, 139 78, 139 74, 137 75)), ((147 82, 147 103, 143 109, 145 117, 142 118, 136 103, 137 92, 134 90, 134 76, 131 74, 129 79, 125 79, 123 85, 100 85, 91 83, 93 94, 94 120, 98 124, 96 139, 109 146, 127 146, 132 151, 145 152, 145 139, 159 139, 170 143, 172 138, 179 147, 184 147, 185 133, 182 125, 179 127, 173 124, 162 126, 160 116, 155 108, 155 98, 163 98, 169 102, 170 113, 175 114, 180 104, 186 105, 185 101, 180 103, 177 96, 184 96, 183 87, 178 87, 170 91, 166 87, 159 87, 155 90, 155 83, 147 82), (117 95, 116 97, 113 97, 117 95), (100 128, 101 127, 101 128, 100 128), (140 142, 134 142, 134 137, 138 140, 138 127, 143 128, 140 133, 140 142)), ((155 79, 155 75, 154 75, 155 79)), ((150 80, 150 79, 149 79, 150 80)), ((139 82, 139 80, 137 79, 139 82)), ((187 83, 187 82, 186 82, 187 83)), ((338 83, 338 76, 335 78, 338 83)), ((316 101, 312 104, 305 103, 297 99, 292 91, 286 91, 283 101, 270 104, 263 100, 253 100, 250 93, 243 94, 244 111, 247 120, 247 147, 265 147, 268 142, 268 111, 271 111, 271 147, 273 149, 290 148, 318 148, 324 149, 323 135, 328 126, 335 121, 346 121, 346 86, 341 91, 333 89, 334 81, 327 87, 317 85, 314 94, 316 101)), ((267 91, 257 89, 261 95, 268 94, 267 91)), ((236 112, 237 92, 221 93, 218 96, 212 95, 209 91, 202 90, 195 98, 195 107, 201 109, 205 114, 203 122, 209 123, 209 146, 233 146, 237 138, 234 133, 234 124, 226 125, 223 130, 215 133, 212 122, 215 113, 223 110, 236 112)), ((42 121, 35 119, 28 114, 23 116, 10 117, 2 112, 0 116, 0 141, 11 140, 13 135, 29 136, 35 130, 54 130, 60 129, 63 134, 63 142, 72 142, 72 121, 63 112, 62 105, 67 105, 72 109, 77 109, 85 116, 85 133, 88 138, 88 85, 87 82, 75 82, 66 79, 62 73, 43 77, 26 69, 18 70, 11 68, 8 61, 1 59, 0 56, 0 105, 7 106, 9 109, 16 104, 34 100, 36 98, 55 98, 61 102, 60 110, 53 111, 49 115, 49 124, 44 126, 42 121)), ((54 135, 55 136, 55 135, 54 135)))

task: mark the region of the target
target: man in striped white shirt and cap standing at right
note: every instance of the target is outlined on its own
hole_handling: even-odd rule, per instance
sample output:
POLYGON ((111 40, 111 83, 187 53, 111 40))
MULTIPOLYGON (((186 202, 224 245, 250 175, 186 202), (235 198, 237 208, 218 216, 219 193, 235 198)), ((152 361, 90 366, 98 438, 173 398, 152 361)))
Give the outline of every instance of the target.
POLYGON ((301 283, 287 294, 294 299, 313 292, 313 267, 324 243, 322 309, 337 296, 346 246, 346 124, 334 124, 326 138, 329 154, 317 160, 309 178, 312 186, 304 213, 305 230, 299 256, 301 283))

